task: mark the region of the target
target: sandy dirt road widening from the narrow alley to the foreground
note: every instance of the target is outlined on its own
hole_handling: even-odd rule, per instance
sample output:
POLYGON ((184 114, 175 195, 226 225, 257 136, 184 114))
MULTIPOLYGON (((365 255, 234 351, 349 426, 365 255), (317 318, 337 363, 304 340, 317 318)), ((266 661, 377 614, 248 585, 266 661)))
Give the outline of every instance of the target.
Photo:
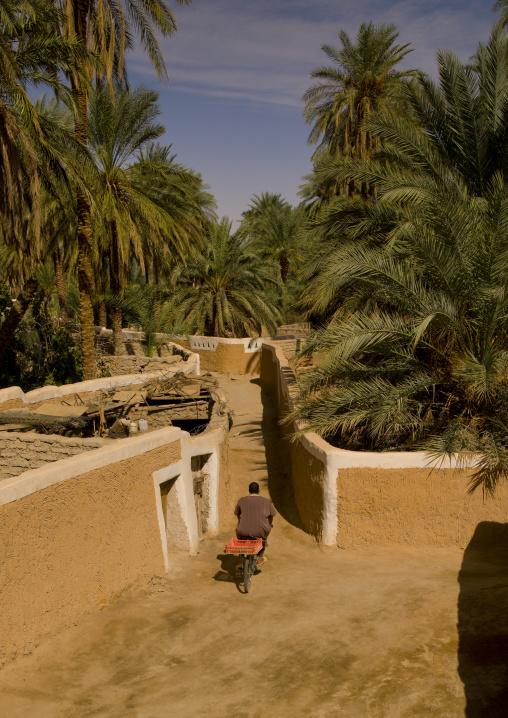
POLYGON ((199 556, 173 556, 167 577, 4 669, 0 716, 464 716, 457 672, 463 552, 318 547, 298 528, 259 385, 247 378, 224 385, 236 409, 236 493, 257 480, 282 513, 251 592, 239 592, 235 561, 222 553, 232 516, 228 535, 202 542, 199 556))

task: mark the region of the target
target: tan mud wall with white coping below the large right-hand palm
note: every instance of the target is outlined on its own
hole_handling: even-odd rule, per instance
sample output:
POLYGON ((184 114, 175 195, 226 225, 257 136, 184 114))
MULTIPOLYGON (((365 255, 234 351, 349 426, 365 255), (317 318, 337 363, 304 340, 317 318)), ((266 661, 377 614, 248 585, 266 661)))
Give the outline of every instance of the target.
MULTIPOLYGON (((261 383, 283 416, 296 386, 278 346, 263 345, 261 383)), ((507 485, 469 495, 468 471, 432 468, 423 452, 342 451, 313 432, 288 445, 302 524, 324 544, 465 547, 481 521, 506 521, 507 485)))

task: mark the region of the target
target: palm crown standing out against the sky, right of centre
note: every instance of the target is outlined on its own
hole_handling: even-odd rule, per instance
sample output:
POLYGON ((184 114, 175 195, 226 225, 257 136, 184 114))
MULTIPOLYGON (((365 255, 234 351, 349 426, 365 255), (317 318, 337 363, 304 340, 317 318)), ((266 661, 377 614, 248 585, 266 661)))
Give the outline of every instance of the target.
MULTIPOLYGON (((365 129, 365 119, 372 112, 406 111, 407 81, 416 71, 395 69, 411 52, 409 44, 394 44, 398 36, 395 25, 370 22, 360 25, 354 43, 341 30, 341 48, 323 45, 333 65, 313 70, 311 77, 317 81, 303 95, 303 115, 312 125, 309 143, 318 145, 316 160, 329 155, 368 160, 376 140, 365 129)), ((355 183, 349 180, 346 186, 353 197, 355 183)), ((370 196, 372 188, 363 183, 361 191, 370 196)))

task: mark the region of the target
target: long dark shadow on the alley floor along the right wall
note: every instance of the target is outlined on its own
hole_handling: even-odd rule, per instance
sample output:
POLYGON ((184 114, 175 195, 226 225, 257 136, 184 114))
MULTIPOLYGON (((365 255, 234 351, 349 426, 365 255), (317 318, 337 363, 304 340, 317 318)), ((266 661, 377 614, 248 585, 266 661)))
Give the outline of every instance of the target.
MULTIPOLYGON (((261 384, 251 379, 251 384, 261 384)), ((268 491, 276 511, 290 524, 303 530, 300 514, 296 507, 290 473, 289 447, 279 425, 277 408, 271 394, 261 390, 263 420, 261 434, 268 469, 268 491)), ((263 464, 260 464, 260 468, 263 464)))

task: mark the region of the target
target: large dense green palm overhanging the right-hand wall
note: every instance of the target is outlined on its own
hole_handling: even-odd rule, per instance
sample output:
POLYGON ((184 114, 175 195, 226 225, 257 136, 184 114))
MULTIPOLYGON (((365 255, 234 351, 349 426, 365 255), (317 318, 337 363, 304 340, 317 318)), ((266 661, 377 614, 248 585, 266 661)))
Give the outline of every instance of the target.
POLYGON ((337 162, 337 181, 375 181, 379 199, 330 207, 329 229, 352 233, 352 213, 356 237, 314 293, 346 301, 308 347, 325 358, 294 414, 349 448, 475 456, 487 491, 508 475, 507 57, 499 28, 472 67, 439 53, 440 87, 411 94, 423 132, 372 117, 384 149, 337 162))

